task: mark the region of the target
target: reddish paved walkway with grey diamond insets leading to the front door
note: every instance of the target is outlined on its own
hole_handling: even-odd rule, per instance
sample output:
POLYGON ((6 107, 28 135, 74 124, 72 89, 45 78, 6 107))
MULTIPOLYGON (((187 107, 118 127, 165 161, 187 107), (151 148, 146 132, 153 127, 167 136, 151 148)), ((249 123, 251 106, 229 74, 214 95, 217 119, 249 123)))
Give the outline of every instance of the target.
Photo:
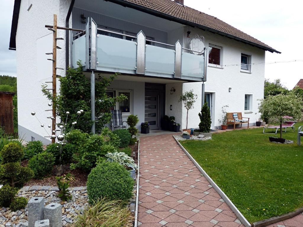
POLYGON ((172 134, 140 140, 138 226, 244 227, 172 134))

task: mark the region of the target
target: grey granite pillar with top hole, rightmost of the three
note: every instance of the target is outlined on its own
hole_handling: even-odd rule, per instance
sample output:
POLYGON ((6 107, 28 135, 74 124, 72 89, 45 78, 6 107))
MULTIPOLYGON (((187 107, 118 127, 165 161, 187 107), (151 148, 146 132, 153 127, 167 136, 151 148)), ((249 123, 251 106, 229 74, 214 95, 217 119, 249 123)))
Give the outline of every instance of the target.
POLYGON ((62 206, 50 203, 44 208, 44 218, 49 219, 49 227, 62 227, 62 206))

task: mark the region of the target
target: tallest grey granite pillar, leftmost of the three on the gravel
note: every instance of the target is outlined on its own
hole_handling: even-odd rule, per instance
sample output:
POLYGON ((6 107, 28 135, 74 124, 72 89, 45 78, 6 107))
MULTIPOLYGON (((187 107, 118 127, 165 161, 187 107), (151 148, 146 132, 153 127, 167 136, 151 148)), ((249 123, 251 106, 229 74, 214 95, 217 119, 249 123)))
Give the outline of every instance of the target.
POLYGON ((44 197, 32 197, 27 205, 28 226, 34 227, 36 221, 44 219, 44 197))

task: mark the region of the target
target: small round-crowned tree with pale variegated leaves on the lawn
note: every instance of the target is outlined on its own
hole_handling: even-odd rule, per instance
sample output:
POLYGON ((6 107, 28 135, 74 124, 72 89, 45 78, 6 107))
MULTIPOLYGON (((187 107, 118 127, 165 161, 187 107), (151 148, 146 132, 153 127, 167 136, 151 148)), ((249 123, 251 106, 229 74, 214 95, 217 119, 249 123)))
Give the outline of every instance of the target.
POLYGON ((291 116, 300 119, 302 116, 302 99, 293 93, 268 96, 261 100, 259 112, 270 120, 278 120, 280 124, 280 138, 282 138, 283 116, 291 116))

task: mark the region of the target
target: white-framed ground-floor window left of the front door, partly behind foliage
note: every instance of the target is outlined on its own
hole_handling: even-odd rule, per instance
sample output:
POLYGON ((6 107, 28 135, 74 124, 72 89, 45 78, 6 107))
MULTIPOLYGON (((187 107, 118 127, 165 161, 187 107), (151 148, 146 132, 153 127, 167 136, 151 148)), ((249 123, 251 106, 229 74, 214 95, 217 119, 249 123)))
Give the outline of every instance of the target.
POLYGON ((127 99, 117 102, 114 107, 115 110, 121 110, 122 113, 132 113, 132 91, 131 90, 107 90, 107 96, 117 97, 124 94, 127 99))

